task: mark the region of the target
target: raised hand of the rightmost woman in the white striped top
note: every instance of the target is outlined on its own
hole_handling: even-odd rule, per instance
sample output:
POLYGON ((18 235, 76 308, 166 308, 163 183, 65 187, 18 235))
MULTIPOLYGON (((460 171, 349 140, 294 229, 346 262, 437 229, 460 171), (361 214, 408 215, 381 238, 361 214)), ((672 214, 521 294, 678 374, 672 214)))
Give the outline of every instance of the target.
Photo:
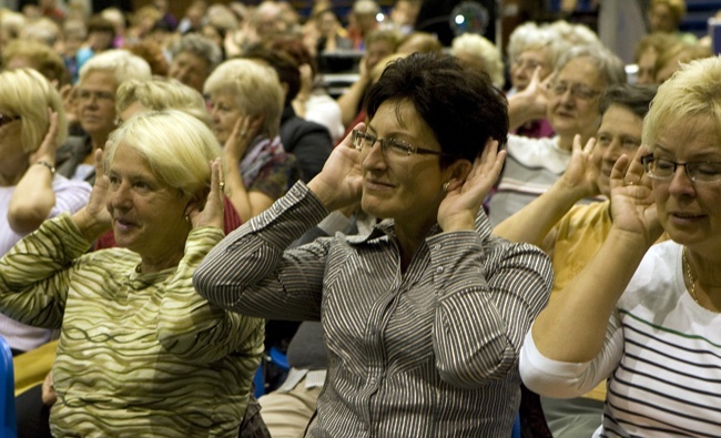
POLYGON ((611 215, 613 226, 643 236, 651 245, 663 230, 659 223, 651 179, 641 157, 650 151, 641 146, 633 160, 621 155, 611 170, 611 215))

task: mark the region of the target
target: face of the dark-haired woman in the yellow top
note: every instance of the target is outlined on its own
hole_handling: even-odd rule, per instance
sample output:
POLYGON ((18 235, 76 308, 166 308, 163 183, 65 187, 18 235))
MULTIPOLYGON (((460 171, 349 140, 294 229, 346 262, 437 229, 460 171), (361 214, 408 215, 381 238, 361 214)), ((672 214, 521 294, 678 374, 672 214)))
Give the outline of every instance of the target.
POLYGON ((601 172, 598 187, 602 195, 610 196, 609 179, 616 160, 622 154, 633 157, 641 145, 643 120, 633 111, 620 104, 612 104, 603 113, 601 126, 596 135, 593 153, 600 159, 601 172))

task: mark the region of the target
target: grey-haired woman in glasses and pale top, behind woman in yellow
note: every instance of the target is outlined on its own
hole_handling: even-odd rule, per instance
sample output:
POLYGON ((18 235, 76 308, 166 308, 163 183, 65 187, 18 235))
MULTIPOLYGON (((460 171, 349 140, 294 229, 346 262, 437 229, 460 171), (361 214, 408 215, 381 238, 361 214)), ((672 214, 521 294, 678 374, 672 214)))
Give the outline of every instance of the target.
POLYGON ((538 74, 522 92, 509 98, 511 128, 546 118, 554 137, 510 135, 508 159, 488 204, 490 222, 499 224, 550 189, 566 170, 573 137, 581 144, 596 135, 601 116, 599 100, 610 85, 626 82, 623 63, 600 44, 578 45, 563 53, 548 88, 538 74))

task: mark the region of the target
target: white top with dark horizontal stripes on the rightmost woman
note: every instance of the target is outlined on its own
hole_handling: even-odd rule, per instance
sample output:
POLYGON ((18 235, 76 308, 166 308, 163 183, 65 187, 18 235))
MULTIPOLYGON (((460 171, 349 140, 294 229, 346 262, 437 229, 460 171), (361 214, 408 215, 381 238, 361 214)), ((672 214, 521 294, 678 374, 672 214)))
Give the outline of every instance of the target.
POLYGON ((544 357, 528 337, 524 380, 548 396, 582 394, 608 377, 599 437, 721 436, 721 314, 693 302, 682 246, 653 245, 589 363, 544 357))

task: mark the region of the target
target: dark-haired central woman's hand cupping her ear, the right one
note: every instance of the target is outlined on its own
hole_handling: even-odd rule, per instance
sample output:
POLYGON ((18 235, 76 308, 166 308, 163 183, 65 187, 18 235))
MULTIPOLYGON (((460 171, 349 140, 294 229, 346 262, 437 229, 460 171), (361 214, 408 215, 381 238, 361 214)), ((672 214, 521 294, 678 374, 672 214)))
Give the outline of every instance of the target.
POLYGON ((498 180, 506 151, 498 151, 498 142, 489 139, 465 180, 451 180, 446 197, 438 207, 438 224, 446 231, 473 230, 486 195, 498 180))

